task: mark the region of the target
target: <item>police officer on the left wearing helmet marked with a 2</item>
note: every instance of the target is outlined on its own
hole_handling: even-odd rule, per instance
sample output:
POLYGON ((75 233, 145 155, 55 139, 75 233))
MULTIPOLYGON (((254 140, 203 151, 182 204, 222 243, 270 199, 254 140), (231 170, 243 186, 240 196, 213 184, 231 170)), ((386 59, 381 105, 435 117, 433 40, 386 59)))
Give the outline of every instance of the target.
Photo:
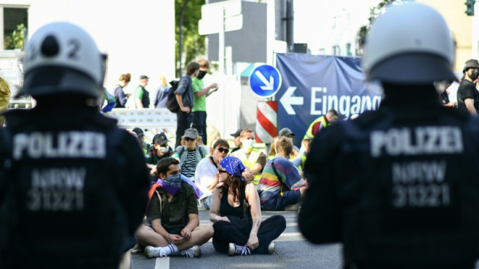
POLYGON ((147 204, 136 139, 99 115, 104 59, 70 23, 33 34, 21 94, 0 130, 0 268, 117 268, 147 204))

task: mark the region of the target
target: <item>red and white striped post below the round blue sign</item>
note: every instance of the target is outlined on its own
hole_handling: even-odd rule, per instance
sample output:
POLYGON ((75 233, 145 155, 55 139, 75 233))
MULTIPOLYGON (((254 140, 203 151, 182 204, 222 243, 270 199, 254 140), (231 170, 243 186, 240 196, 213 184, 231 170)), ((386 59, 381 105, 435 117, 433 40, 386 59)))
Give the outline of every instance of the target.
POLYGON ((256 109, 256 142, 271 144, 278 133, 277 121, 277 102, 259 101, 256 109))

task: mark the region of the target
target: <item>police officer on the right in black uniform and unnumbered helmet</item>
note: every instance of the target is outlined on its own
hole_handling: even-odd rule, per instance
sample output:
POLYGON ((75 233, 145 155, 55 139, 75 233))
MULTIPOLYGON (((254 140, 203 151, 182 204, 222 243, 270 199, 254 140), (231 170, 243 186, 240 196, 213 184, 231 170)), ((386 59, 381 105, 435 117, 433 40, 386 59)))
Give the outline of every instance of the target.
POLYGON ((314 243, 342 242, 345 268, 473 268, 479 256, 479 120, 439 104, 454 80, 444 19, 417 3, 390 6, 364 48, 376 112, 313 141, 298 225, 314 243))

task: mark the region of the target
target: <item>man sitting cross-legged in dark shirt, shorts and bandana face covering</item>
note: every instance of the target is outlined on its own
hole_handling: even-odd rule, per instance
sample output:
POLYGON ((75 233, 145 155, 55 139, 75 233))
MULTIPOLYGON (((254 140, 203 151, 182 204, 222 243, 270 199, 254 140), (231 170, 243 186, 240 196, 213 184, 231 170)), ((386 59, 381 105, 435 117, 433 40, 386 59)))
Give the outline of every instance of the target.
POLYGON ((199 257, 199 246, 213 236, 213 227, 199 226, 195 191, 182 181, 177 159, 161 159, 156 171, 161 188, 152 193, 146 213, 148 224, 136 232, 138 243, 146 246, 148 258, 166 257, 176 252, 199 257))

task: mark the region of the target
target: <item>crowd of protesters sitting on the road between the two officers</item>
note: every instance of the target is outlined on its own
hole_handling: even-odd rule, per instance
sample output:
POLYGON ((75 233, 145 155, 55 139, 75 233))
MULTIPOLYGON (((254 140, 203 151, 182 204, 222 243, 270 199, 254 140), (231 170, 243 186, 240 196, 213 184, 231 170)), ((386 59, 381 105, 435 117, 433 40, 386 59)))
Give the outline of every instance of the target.
POLYGON ((273 240, 286 228, 281 215, 262 221, 261 210, 284 210, 298 205, 307 189, 302 167, 310 150, 306 138, 294 149, 294 133, 279 131, 267 156, 255 147, 253 130, 238 129, 234 148, 216 137, 211 147, 195 128, 185 130, 173 150, 164 132, 152 143, 140 128, 131 131, 145 154, 150 170, 149 206, 136 233, 147 257, 201 255, 200 246, 213 246, 229 255, 273 253, 273 240), (213 226, 199 226, 198 207, 210 211, 213 226))

